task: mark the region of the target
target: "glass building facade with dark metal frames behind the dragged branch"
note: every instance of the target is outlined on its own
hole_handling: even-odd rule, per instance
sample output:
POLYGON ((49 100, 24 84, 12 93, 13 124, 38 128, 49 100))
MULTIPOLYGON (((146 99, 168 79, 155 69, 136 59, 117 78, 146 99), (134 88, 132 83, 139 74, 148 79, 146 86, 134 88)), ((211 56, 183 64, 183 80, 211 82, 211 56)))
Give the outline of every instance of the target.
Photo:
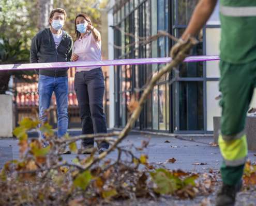
MULTIPOLYGON (((198 0, 116 0, 109 2, 109 59, 168 57, 175 43, 167 37, 143 41, 158 30, 180 38, 198 0), (110 27, 115 26, 115 27, 110 27), (121 29, 118 29, 121 28, 121 29), (126 33, 131 35, 126 35, 126 33), (121 48, 122 47, 122 48, 121 48)), ((198 35, 192 56, 218 55, 220 21, 217 4, 198 35)), ((122 128, 130 116, 131 96, 139 99, 147 79, 164 64, 109 67, 110 127, 122 128)), ((134 129, 176 134, 213 133, 213 116, 220 115, 219 62, 187 62, 163 76, 147 98, 134 129)))

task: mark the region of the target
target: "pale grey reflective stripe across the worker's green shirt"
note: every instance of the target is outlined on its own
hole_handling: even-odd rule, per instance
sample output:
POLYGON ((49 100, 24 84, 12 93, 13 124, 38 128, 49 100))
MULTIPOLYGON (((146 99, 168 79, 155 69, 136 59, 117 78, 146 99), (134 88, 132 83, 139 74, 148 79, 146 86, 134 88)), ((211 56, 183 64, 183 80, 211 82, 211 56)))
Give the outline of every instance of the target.
POLYGON ((220 13, 225 16, 256 16, 256 7, 227 7, 220 5, 220 13))

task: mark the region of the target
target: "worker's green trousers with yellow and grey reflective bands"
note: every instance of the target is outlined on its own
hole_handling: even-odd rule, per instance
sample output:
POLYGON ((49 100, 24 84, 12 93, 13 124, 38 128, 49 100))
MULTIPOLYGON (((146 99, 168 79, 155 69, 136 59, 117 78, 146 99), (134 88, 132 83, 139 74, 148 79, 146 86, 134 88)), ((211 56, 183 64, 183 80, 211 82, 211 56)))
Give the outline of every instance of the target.
POLYGON ((220 61, 222 117, 219 147, 223 157, 220 169, 223 182, 229 185, 235 185, 243 176, 248 152, 244 129, 255 87, 256 60, 246 64, 220 61))

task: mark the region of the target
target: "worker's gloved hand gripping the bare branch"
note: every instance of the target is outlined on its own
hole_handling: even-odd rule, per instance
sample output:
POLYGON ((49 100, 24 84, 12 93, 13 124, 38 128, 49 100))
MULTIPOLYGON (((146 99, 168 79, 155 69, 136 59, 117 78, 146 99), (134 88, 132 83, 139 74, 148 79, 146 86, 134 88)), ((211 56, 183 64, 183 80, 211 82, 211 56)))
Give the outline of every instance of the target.
POLYGON ((187 43, 188 43, 188 39, 184 41, 182 38, 180 38, 178 42, 174 44, 174 46, 171 48, 171 51, 170 51, 171 58, 172 59, 178 58, 176 60, 178 62, 182 62, 186 57, 188 57, 190 55, 190 49, 186 50, 184 53, 181 53, 179 54, 179 56, 177 56, 178 53, 185 48, 187 43))

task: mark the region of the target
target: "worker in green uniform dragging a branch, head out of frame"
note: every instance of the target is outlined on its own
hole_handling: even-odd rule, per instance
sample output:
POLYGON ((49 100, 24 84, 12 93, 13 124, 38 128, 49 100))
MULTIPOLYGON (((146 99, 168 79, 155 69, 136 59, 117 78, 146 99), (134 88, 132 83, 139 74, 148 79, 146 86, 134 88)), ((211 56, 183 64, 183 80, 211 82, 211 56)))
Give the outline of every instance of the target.
MULTIPOLYGON (((182 35, 171 50, 175 58, 188 35, 196 36, 214 11, 217 0, 201 0, 182 35)), ((219 147, 223 157, 223 180, 217 206, 235 205, 242 186, 247 157, 244 132, 246 114, 256 86, 256 2, 220 0, 221 43, 220 83, 222 93, 219 147)))

